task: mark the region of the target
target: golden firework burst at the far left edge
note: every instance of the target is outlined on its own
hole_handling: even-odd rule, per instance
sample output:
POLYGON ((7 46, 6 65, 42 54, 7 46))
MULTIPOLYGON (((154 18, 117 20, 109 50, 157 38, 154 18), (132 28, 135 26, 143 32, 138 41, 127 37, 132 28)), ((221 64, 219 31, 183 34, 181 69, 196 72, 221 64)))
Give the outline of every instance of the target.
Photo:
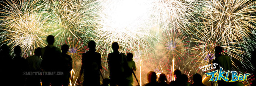
POLYGON ((35 6, 36 1, 15 0, 4 2, 6 6, 2 8, 1 18, 3 31, 1 35, 5 36, 2 42, 22 47, 22 54, 31 56, 37 47, 46 46, 45 38, 49 33, 44 32, 49 25, 44 20, 44 16, 38 13, 39 9, 35 6))

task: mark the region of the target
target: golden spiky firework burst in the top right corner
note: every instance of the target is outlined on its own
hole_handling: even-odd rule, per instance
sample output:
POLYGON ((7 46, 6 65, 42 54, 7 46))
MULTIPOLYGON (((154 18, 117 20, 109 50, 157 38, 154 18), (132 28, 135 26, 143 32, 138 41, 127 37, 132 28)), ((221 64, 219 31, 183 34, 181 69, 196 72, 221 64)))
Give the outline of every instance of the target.
POLYGON ((210 0, 204 3, 202 19, 221 39, 244 41, 255 29, 255 4, 250 0, 210 0))

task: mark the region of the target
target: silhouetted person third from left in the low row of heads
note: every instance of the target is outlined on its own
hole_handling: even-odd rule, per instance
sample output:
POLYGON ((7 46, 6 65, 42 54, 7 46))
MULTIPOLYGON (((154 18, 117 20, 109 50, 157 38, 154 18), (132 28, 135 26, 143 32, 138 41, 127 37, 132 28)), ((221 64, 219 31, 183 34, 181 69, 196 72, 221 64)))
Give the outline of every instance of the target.
POLYGON ((179 69, 175 69, 173 73, 174 73, 175 81, 171 81, 170 85, 179 86, 179 83, 181 83, 181 71, 179 69))

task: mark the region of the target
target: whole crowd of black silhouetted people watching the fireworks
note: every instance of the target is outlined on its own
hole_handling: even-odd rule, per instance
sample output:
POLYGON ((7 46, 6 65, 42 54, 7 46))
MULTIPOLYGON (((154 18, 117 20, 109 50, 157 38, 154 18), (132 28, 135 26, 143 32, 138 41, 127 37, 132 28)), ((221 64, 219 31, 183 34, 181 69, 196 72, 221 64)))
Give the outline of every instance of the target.
MULTIPOLYGON (((21 56, 22 49, 19 45, 13 49, 14 57, 10 55, 8 45, 1 45, 1 84, 4 84, 3 86, 69 86, 72 69, 72 58, 67 54, 69 46, 64 44, 61 49, 55 47, 53 45, 55 38, 52 35, 47 36, 46 41, 48 43, 46 47, 36 48, 34 55, 28 56, 26 59, 21 56), (53 75, 42 73, 32 73, 31 75, 31 72, 50 72, 53 75), (58 72, 61 73, 56 74, 58 72)), ((138 83, 133 82, 134 71, 136 71, 133 54, 119 52, 119 45, 114 42, 112 44, 113 52, 109 53, 107 58, 109 78, 103 79, 102 77, 103 81, 100 84, 101 54, 96 52, 94 41, 88 42, 88 48, 89 50, 82 54, 82 67, 77 80, 80 81, 83 74, 83 86, 132 86, 132 83, 138 83)), ((220 64, 225 70, 231 70, 230 58, 222 55, 221 52, 221 47, 215 48, 216 59, 214 62, 220 64)), ((179 69, 173 73, 175 80, 169 82, 165 74, 160 74, 157 79, 156 73, 150 71, 148 83, 143 84, 143 86, 205 86, 200 74, 193 74, 191 83, 188 82, 188 76, 182 74, 179 69)), ((227 85, 225 82, 219 82, 220 86, 227 85)))

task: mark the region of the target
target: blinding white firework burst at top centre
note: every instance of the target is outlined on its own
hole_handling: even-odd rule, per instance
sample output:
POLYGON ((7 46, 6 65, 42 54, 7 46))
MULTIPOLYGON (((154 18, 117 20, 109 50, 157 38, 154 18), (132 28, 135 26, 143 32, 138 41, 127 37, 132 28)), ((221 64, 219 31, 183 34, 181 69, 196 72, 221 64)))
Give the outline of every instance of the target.
MULTIPOLYGON (((111 44, 118 42, 121 51, 137 51, 151 45, 152 38, 167 28, 182 33, 188 23, 188 9, 193 0, 101 0, 98 26, 95 29, 100 53, 110 53, 111 44), (179 14, 179 15, 177 15, 179 14), (171 17, 171 18, 170 18, 171 17), (175 21, 174 21, 175 20, 175 21)), ((156 40, 153 40, 154 42, 156 40)))

